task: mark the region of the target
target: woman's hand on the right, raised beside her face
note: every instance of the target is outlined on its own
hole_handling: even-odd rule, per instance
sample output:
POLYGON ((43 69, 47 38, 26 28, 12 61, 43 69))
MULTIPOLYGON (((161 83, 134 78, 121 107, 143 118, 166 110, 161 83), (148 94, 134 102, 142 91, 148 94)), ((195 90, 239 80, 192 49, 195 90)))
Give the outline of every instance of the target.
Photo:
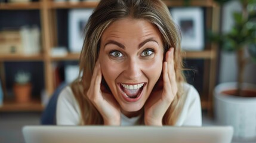
POLYGON ((174 70, 174 48, 170 48, 165 56, 162 77, 159 78, 144 106, 145 125, 162 126, 164 114, 178 91, 174 70))

